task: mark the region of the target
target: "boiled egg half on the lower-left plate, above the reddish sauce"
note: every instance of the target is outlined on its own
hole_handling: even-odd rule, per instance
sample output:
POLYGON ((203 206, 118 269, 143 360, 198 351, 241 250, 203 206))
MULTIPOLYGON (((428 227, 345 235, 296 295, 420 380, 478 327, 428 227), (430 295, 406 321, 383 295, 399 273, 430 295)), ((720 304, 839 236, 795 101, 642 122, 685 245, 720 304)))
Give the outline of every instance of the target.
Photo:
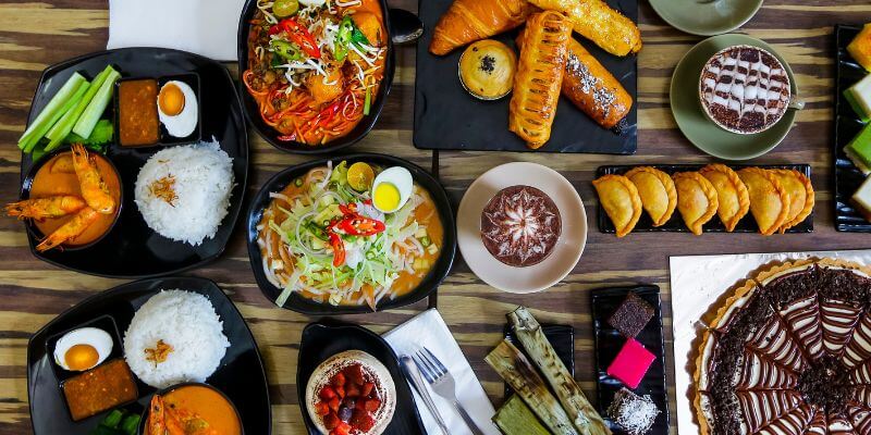
POLYGON ((112 337, 96 327, 81 327, 54 344, 54 362, 71 372, 84 372, 103 362, 112 352, 112 337))

